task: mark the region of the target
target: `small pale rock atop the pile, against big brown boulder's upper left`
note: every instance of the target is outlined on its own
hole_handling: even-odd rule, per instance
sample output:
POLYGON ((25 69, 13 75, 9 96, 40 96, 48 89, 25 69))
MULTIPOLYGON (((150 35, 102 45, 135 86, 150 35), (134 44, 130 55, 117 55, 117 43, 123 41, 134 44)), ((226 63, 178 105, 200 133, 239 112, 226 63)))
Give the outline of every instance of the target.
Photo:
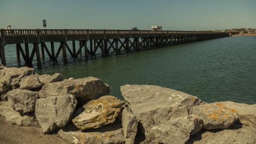
POLYGON ((53 75, 41 75, 39 76, 39 81, 44 85, 47 83, 54 83, 63 81, 63 76, 59 73, 53 75))

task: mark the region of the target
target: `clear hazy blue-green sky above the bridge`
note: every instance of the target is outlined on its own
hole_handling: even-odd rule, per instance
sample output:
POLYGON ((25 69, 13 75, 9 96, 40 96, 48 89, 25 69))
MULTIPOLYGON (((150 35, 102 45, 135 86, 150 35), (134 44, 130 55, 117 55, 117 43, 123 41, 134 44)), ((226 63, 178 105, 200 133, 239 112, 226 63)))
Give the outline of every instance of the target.
POLYGON ((256 28, 256 0, 0 0, 0 28, 207 30, 256 28))

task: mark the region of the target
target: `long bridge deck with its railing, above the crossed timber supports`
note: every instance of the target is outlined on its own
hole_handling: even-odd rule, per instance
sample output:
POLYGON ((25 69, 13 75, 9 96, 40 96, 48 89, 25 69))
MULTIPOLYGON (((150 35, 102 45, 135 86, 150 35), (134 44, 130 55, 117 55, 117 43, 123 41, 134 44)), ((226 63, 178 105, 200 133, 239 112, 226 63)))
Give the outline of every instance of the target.
POLYGON ((0 38, 5 44, 82 41, 89 39, 114 39, 159 37, 172 35, 227 34, 219 31, 171 31, 171 30, 96 30, 96 29, 1 29, 0 38))

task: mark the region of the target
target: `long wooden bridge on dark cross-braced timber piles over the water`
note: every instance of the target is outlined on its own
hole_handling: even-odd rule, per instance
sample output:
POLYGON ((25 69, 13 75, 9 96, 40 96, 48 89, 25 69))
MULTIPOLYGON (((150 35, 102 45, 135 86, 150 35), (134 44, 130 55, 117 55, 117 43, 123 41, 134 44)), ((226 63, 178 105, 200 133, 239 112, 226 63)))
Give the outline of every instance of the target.
POLYGON ((17 61, 20 62, 21 54, 25 64, 32 65, 34 55, 36 55, 38 67, 41 67, 41 59, 45 59, 44 51, 52 61, 57 61, 60 52, 62 52, 64 63, 68 63, 67 51, 73 58, 84 53, 85 59, 89 59, 95 55, 98 49, 103 57, 108 55, 111 49, 118 54, 121 50, 126 52, 141 51, 231 35, 219 31, 105 29, 1 29, 0 32, 0 59, 3 65, 6 66, 4 47, 9 44, 16 44, 17 61), (68 41, 72 41, 72 47, 67 44, 68 41), (76 46, 76 41, 79 41, 78 46, 76 46), (51 47, 47 47, 46 42, 50 42, 51 47), (33 44, 33 47, 29 48, 29 43, 33 44), (56 53, 54 43, 59 43, 56 53), (90 43, 89 46, 87 43, 90 43))

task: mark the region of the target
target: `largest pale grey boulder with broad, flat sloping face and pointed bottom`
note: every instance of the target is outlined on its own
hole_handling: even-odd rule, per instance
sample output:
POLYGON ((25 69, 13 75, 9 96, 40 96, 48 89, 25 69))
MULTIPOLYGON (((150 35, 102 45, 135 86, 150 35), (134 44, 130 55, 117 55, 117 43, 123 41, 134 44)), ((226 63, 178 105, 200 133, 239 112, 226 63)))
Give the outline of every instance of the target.
POLYGON ((188 108, 204 104, 195 96, 154 85, 124 85, 121 92, 146 137, 154 125, 188 116, 188 108))

